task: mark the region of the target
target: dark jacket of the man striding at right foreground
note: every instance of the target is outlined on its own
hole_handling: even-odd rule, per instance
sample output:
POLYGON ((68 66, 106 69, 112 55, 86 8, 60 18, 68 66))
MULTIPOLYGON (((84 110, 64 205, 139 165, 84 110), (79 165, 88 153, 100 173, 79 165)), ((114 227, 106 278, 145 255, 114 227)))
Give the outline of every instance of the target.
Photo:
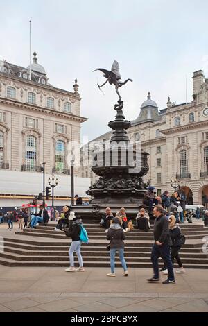
POLYGON ((169 235, 169 222, 164 215, 160 215, 156 218, 153 234, 155 241, 167 243, 169 246, 171 245, 171 239, 169 235))

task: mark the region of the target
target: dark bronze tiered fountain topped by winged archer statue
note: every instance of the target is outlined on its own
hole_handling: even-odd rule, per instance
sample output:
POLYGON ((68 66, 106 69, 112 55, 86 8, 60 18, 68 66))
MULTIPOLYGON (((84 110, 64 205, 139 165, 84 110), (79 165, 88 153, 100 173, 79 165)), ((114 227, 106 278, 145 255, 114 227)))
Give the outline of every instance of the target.
MULTIPOLYGON (((115 85, 119 101, 114 105, 116 117, 108 126, 113 130, 110 144, 103 151, 94 155, 92 171, 99 176, 98 180, 89 187, 87 195, 92 196, 84 217, 89 216, 89 209, 97 216, 104 212, 105 207, 111 207, 116 212, 120 207, 125 207, 128 215, 132 217, 142 204, 146 185, 143 176, 148 173, 148 153, 142 151, 141 144, 131 144, 126 130, 130 127, 130 121, 123 115, 123 101, 119 94, 119 87, 125 85, 131 79, 121 82, 119 64, 114 61, 111 71, 96 69, 104 73, 107 82, 115 85), (86 214, 88 211, 88 214, 86 214)), ((99 86, 101 88, 103 85, 99 86)), ((86 206, 85 206, 86 207, 86 206)), ((78 207, 77 207, 78 208, 78 207)), ((87 208, 87 207, 86 207, 87 208)), ((82 209, 83 210, 83 209, 82 209)))

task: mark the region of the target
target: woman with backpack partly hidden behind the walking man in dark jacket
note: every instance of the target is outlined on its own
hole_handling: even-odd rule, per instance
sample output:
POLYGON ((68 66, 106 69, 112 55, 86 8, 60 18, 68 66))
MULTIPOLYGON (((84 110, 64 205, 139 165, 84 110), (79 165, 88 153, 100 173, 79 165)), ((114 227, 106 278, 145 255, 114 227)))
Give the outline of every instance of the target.
MULTIPOLYGON (((174 259, 176 259, 177 264, 179 266, 179 268, 176 270, 177 274, 182 274, 182 273, 186 273, 185 269, 183 268, 182 265, 182 261, 179 257, 179 251, 181 246, 184 244, 184 236, 182 236, 180 228, 178 225, 175 224, 175 216, 171 215, 169 217, 169 234, 171 237, 171 260, 174 266, 174 259)), ((162 268, 162 273, 163 274, 168 274, 168 270, 166 269, 166 266, 164 266, 164 268, 162 268)))

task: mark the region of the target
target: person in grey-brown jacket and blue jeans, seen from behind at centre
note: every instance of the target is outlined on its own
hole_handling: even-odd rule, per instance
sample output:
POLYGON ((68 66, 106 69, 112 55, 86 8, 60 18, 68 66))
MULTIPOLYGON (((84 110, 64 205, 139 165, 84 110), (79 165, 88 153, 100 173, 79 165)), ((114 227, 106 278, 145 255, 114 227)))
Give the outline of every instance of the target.
POLYGON ((108 273, 107 276, 115 277, 115 256, 116 252, 119 252, 119 259, 121 261, 121 264, 123 266, 124 276, 128 276, 127 266, 125 263, 125 259, 123 256, 124 253, 124 242, 125 240, 125 234, 124 230, 121 227, 121 219, 120 218, 114 218, 112 220, 112 224, 110 225, 110 228, 107 232, 107 240, 110 240, 110 268, 111 273, 108 273))

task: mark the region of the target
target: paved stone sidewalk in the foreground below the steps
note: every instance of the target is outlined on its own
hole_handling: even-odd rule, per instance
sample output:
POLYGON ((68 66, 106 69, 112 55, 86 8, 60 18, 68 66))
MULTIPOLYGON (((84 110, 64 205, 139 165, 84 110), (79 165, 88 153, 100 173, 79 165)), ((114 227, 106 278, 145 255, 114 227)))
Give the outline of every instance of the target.
POLYGON ((0 311, 208 311, 207 270, 189 269, 168 285, 146 282, 149 268, 130 268, 128 277, 109 271, 0 266, 0 311))

